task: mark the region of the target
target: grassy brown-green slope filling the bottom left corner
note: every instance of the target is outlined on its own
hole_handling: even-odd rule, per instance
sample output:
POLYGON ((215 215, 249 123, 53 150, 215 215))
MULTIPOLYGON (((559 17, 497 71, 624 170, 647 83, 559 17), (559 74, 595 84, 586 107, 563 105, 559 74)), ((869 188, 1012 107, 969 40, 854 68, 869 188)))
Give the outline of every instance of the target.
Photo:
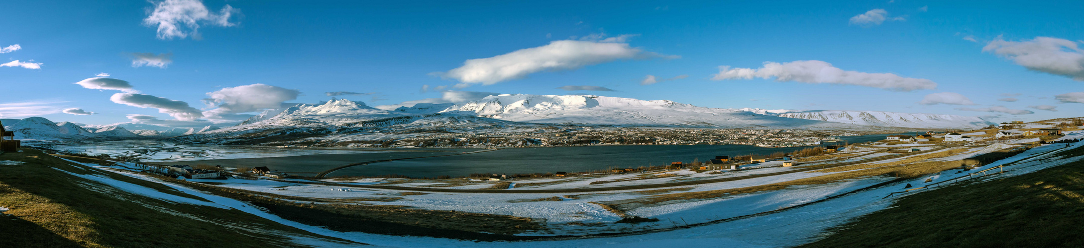
POLYGON ((0 154, 0 247, 361 245, 34 149, 0 154))

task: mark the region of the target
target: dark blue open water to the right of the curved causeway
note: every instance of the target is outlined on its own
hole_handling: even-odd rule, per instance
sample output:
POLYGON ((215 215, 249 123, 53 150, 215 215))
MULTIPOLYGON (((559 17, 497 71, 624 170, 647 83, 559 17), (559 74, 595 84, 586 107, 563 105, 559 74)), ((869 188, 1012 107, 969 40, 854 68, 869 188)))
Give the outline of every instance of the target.
MULTIPOLYGON (((914 134, 916 133, 907 133, 907 135, 914 134)), ((885 136, 888 135, 844 136, 839 138, 850 143, 859 143, 882 140, 885 136)), ((707 162, 717 155, 767 155, 775 152, 791 152, 804 148, 810 147, 760 148, 741 144, 674 144, 515 148, 454 156, 374 163, 340 169, 328 176, 380 176, 396 174, 411 177, 455 177, 477 173, 573 173, 616 167, 664 165, 679 161, 685 163, 693 162, 694 160, 707 162)), ((336 156, 350 156, 350 154, 336 154, 336 156)))

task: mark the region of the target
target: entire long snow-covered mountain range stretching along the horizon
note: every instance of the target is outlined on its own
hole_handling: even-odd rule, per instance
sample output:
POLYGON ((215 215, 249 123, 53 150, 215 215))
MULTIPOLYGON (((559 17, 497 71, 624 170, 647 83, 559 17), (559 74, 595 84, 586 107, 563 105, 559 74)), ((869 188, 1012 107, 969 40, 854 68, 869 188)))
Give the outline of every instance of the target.
MULTIPOLYGON (((201 143, 372 142, 440 133, 521 132, 562 126, 681 127, 814 130, 889 130, 890 127, 964 129, 991 122, 975 116, 880 111, 764 110, 705 108, 671 100, 640 100, 592 95, 488 96, 461 105, 417 104, 382 110, 347 99, 264 110, 235 126, 145 128, 118 123, 79 126, 43 118, 5 121, 16 138, 163 139, 201 143)), ((160 126, 159 126, 160 127, 160 126)))

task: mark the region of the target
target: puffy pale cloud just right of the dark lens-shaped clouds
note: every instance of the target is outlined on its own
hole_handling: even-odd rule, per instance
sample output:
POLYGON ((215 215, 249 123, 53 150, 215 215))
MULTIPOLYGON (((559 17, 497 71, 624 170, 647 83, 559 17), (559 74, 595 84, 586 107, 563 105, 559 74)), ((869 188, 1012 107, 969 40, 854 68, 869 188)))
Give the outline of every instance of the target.
POLYGON ((236 87, 225 87, 207 93, 209 98, 204 102, 217 107, 205 113, 208 116, 228 113, 245 113, 263 109, 282 108, 283 101, 297 99, 301 92, 267 84, 249 84, 236 87))

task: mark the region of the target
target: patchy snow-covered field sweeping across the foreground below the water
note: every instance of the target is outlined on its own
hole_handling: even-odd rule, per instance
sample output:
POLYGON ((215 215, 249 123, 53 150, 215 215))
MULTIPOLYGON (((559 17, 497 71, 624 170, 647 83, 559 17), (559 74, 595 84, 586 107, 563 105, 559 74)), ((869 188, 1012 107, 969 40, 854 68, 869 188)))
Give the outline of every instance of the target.
MULTIPOLYGON (((1071 132, 1063 139, 1084 138, 1084 132, 1071 132)), ((1082 157, 1055 157, 1055 154, 1084 146, 1084 142, 1054 143, 1035 147, 1023 153, 968 170, 966 173, 979 171, 981 169, 994 168, 1005 165, 1005 174, 978 177, 979 180, 990 180, 999 177, 1010 177, 1035 171, 1050 166, 1081 160, 1082 157)), ((909 146, 902 146, 911 148, 909 146)), ((991 146, 960 147, 967 149, 966 152, 957 153, 944 157, 932 157, 930 161, 959 161, 977 155, 996 152, 1005 149, 1019 148, 1019 144, 995 143, 991 146)), ((922 149, 940 149, 940 146, 914 147, 922 149)), ((951 149, 960 148, 947 148, 951 149)), ((883 147, 882 149, 892 149, 883 147)), ((933 152, 935 153, 935 152, 933 152)), ((922 154, 894 154, 889 152, 851 152, 853 156, 843 156, 836 160, 823 160, 816 162, 801 163, 804 165, 816 165, 827 163, 857 162, 868 159, 878 159, 888 155, 896 157, 874 162, 893 163, 907 160, 922 154)), ((924 153, 931 154, 931 153, 924 153)), ((78 164, 77 162, 72 162, 78 164)), ((804 244, 820 238, 822 233, 834 226, 847 223, 854 218, 883 209, 894 201, 898 194, 903 191, 904 184, 913 188, 924 185, 943 187, 953 181, 969 179, 966 173, 957 169, 945 170, 909 181, 895 182, 880 188, 869 188, 874 184, 887 182, 892 178, 887 177, 862 177, 850 180, 836 181, 824 184, 792 185, 785 190, 759 191, 754 193, 727 195, 722 197, 707 197, 694 199, 673 199, 655 204, 643 204, 627 208, 625 215, 646 218, 658 218, 660 221, 640 224, 618 224, 614 223, 622 217, 609 211, 595 203, 614 203, 622 201, 638 201, 674 193, 695 193, 728 190, 737 188, 765 185, 777 182, 792 181, 803 178, 811 178, 833 173, 792 173, 770 177, 749 178, 744 180, 704 183, 685 187, 670 187, 650 190, 622 190, 603 191, 590 193, 507 193, 517 190, 543 190, 543 189, 584 189, 598 187, 619 187, 637 184, 656 184, 674 181, 704 180, 712 178, 726 178, 737 176, 748 176, 758 174, 770 174, 792 170, 798 167, 778 167, 782 162, 769 162, 753 164, 743 167, 741 170, 726 171, 722 174, 695 173, 691 170, 670 170, 651 173, 630 173, 617 175, 591 175, 569 178, 539 178, 539 179, 517 179, 513 180, 509 189, 502 190, 505 193, 438 193, 425 192, 424 194, 397 191, 376 190, 360 188, 344 188, 322 184, 307 184, 304 180, 274 181, 274 180, 191 180, 191 181, 214 181, 220 187, 266 192, 272 194, 313 197, 313 198, 336 198, 353 199, 358 204, 370 205, 396 205, 416 207, 435 210, 456 210, 480 213, 511 215, 518 217, 530 217, 545 219, 547 230, 524 233, 520 235, 584 235, 596 233, 627 232, 621 236, 589 236, 588 238, 560 238, 554 240, 537 242, 493 242, 475 243, 473 240, 456 240, 433 237, 404 237, 390 235, 376 235, 357 232, 335 232, 319 226, 310 226, 294 221, 282 219, 278 216, 263 212, 260 209, 251 208, 243 202, 214 196, 185 187, 163 182, 182 192, 197 195, 206 201, 192 198, 173 198, 173 195, 160 195, 160 192, 149 192, 149 189, 139 189, 125 184, 122 181, 112 180, 95 175, 77 175, 82 178, 114 185, 118 190, 129 191, 137 194, 149 195, 163 198, 165 201, 207 205, 215 207, 229 207, 241 209, 269 220, 278 221, 287 225, 296 226, 315 234, 339 237, 349 240, 388 247, 643 247, 643 246, 709 246, 709 247, 787 247, 804 244), (930 182, 926 182, 930 179, 930 182), (592 182, 606 182, 591 184, 592 182), (344 191, 343 189, 349 189, 344 191), (893 195, 892 197, 886 197, 893 195), (764 213, 767 212, 767 213, 764 213), (750 216, 754 213, 764 213, 750 216), (691 225, 688 229, 671 229, 675 226, 691 225)), ((143 180, 157 181, 139 174, 127 171, 128 169, 140 169, 134 164, 117 163, 115 166, 95 166, 124 174, 126 176, 140 178, 143 180)), ((358 179, 349 181, 325 180, 327 182, 352 183, 352 184, 389 184, 400 187, 433 187, 440 189, 486 189, 493 182, 477 180, 404 180, 404 179, 358 179)), ((964 180, 966 181, 966 180, 964 180)), ((160 182, 160 181, 159 181, 160 182)), ((130 183, 129 183, 130 184, 130 183)), ((153 191, 153 190, 151 190, 153 191)), ((917 191, 916 191, 917 192, 917 191)), ((311 242, 310 244, 324 246, 339 246, 340 244, 327 243, 318 239, 301 239, 297 237, 295 242, 311 242)), ((343 245, 345 246, 345 245, 343 245)))

